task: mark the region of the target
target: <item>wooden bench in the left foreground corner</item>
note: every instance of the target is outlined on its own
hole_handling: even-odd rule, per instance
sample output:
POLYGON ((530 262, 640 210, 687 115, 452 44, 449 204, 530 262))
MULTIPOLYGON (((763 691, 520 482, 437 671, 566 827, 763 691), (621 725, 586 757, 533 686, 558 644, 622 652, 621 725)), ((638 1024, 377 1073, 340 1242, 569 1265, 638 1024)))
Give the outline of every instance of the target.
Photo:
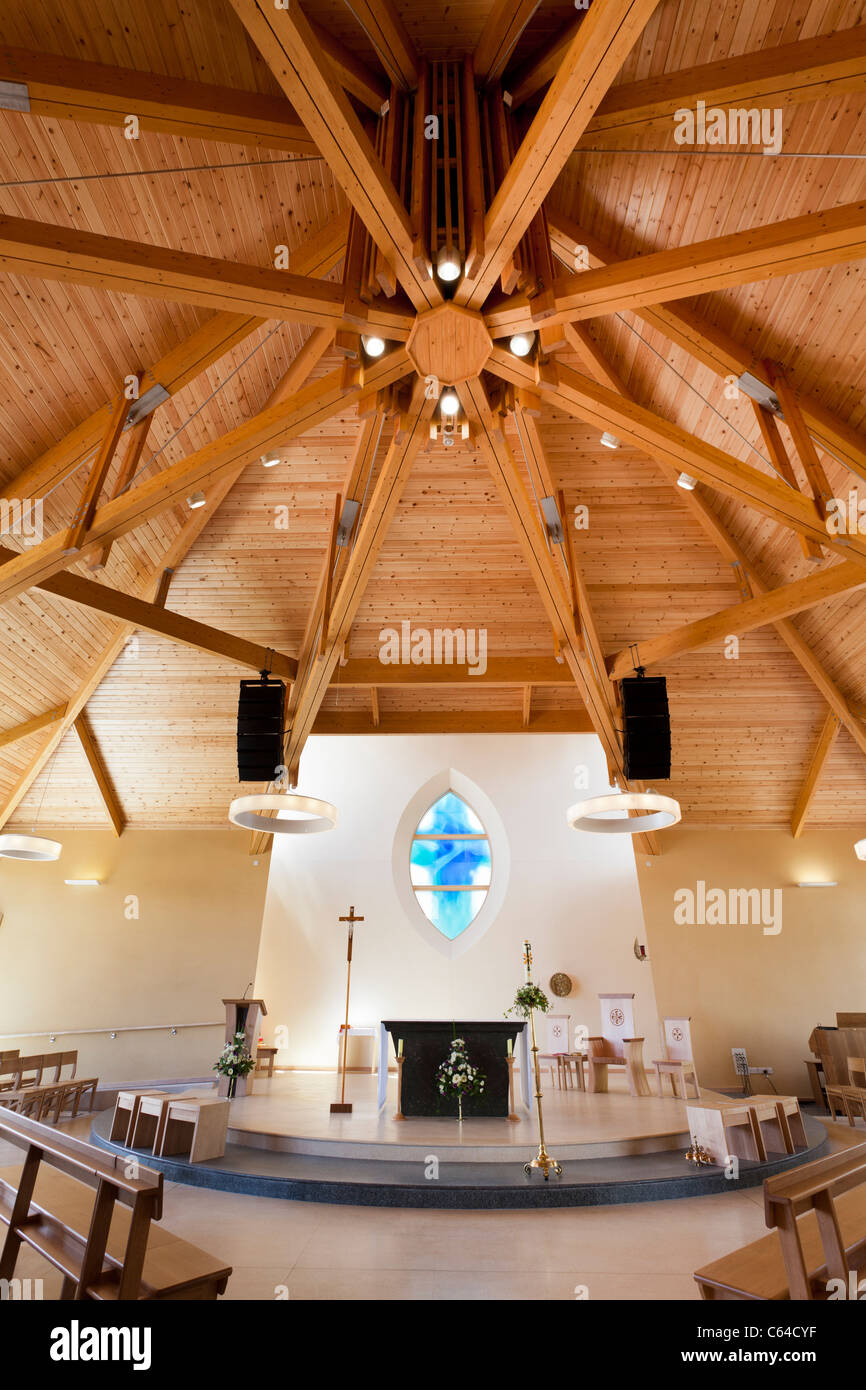
POLYGON ((225 1291, 231 1266, 158 1225, 163 1175, 57 1134, 0 1106, 0 1140, 25 1150, 22 1168, 0 1169, 0 1279, 21 1245, 63 1275, 61 1298, 207 1300, 225 1291))

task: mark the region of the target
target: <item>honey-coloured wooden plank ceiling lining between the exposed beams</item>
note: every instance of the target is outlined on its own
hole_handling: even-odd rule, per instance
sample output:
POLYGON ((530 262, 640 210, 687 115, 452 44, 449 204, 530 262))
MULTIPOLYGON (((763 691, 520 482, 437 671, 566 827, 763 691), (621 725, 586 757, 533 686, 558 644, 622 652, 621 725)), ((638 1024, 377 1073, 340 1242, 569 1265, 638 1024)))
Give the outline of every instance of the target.
MULTIPOLYGON (((293 0, 291 8, 297 8, 293 0)), ((598 267, 830 214, 863 196, 862 3, 792 0, 770 10, 744 0, 712 15, 701 0, 660 0, 644 6, 645 14, 623 0, 594 0, 592 8, 596 24, 610 17, 612 33, 628 22, 637 29, 623 44, 619 74, 614 70, 594 93, 584 133, 571 154, 562 153, 559 177, 546 192, 563 275, 573 270, 578 245, 589 247, 598 267), (835 56, 827 50, 823 65, 809 67, 816 38, 826 42, 855 26, 860 33, 840 44, 835 56), (774 64, 771 54, 791 44, 802 47, 774 64), (767 58, 751 57, 762 53, 767 58), (719 67, 691 82, 663 81, 708 64, 719 67), (631 92, 635 83, 641 86, 631 92), (755 101, 748 100, 749 90, 755 101), (783 157, 674 145, 666 100, 670 106, 677 93, 683 104, 701 95, 724 100, 728 92, 741 104, 783 106, 783 157), (620 110, 637 110, 639 120, 617 128, 620 110)), ((411 54, 474 53, 477 63, 493 68, 503 61, 505 86, 538 103, 557 64, 573 60, 569 44, 580 21, 571 3, 557 0, 425 6, 317 0, 306 11, 353 101, 366 85, 386 93, 395 65, 407 65, 411 54)), ((277 33, 279 22, 277 14, 277 33)), ((202 486, 209 496, 207 507, 190 513, 185 505, 190 484, 171 506, 163 499, 143 523, 124 521, 115 538, 107 535, 110 553, 100 571, 82 562, 51 560, 44 577, 39 563, 26 562, 18 581, 24 560, 8 557, 13 569, 6 574, 0 566, 0 820, 11 824, 29 826, 36 817, 40 826, 108 824, 107 805, 113 805, 115 828, 122 821, 221 826, 238 794, 234 721, 245 671, 218 651, 202 649, 202 642, 214 646, 213 635, 181 630, 172 617, 165 621, 174 624, 175 637, 185 632, 193 645, 161 635, 158 613, 145 614, 152 627, 142 628, 139 610, 121 605, 115 613, 126 613, 129 621, 118 623, 82 606, 81 581, 154 600, 168 614, 300 657, 292 753, 310 731, 589 730, 606 714, 587 708, 581 671, 591 681, 602 657, 610 664, 631 644, 651 651, 649 644, 664 634, 742 600, 755 603, 766 589, 815 580, 838 563, 827 546, 822 564, 810 562, 790 524, 801 531, 815 524, 813 535, 822 534, 788 425, 780 425, 780 434, 802 498, 778 482, 755 411, 745 396, 730 399, 726 375, 760 370, 765 359, 783 363, 801 404, 808 404, 805 420, 833 493, 847 498, 866 477, 866 218, 859 214, 838 234, 830 217, 827 232, 812 222, 785 231, 765 253, 771 278, 765 271, 763 279, 752 279, 740 268, 724 284, 717 253, 709 257, 712 279, 702 252, 687 252, 680 257, 685 285, 705 292, 666 306, 657 297, 638 302, 646 284, 642 267, 631 281, 616 275, 587 281, 595 300, 577 282, 564 286, 555 317, 569 321, 567 345, 555 353, 544 379, 535 381, 531 364, 502 350, 485 374, 488 389, 498 381, 514 385, 516 411, 491 411, 487 396, 467 385, 470 445, 421 445, 420 403, 414 416, 405 406, 399 441, 409 443, 392 445, 393 420, 381 431, 377 416, 359 421, 357 389, 346 389, 342 406, 331 403, 311 428, 292 430, 292 421, 307 425, 313 406, 306 402, 316 402, 325 389, 321 384, 341 373, 343 359, 334 352, 329 331, 311 325, 320 322, 317 306, 332 316, 342 299, 349 175, 339 160, 320 157, 303 121, 282 143, 272 131, 257 145, 249 135, 245 143, 227 138, 235 133, 231 129, 188 133, 189 113, 185 120, 172 115, 157 81, 260 93, 256 114, 265 125, 278 107, 282 111, 285 97, 274 76, 279 65, 257 38, 260 24, 256 4, 243 0, 207 6, 154 0, 147 7, 78 0, 63 8, 50 0, 6 0, 0 14, 0 81, 28 81, 32 97, 31 113, 0 111, 0 218, 261 268, 261 278, 243 286, 260 300, 252 324, 249 309, 246 317, 229 317, 225 303, 209 307, 204 296, 192 302, 189 284, 178 288, 177 299, 132 292, 140 289, 135 256, 121 289, 120 271, 106 278, 110 267, 96 243, 51 245, 31 231, 26 246, 19 224, 0 227, 1 495, 24 493, 22 480, 33 478, 33 463, 44 464, 47 456, 39 474, 50 481, 46 534, 63 538, 90 464, 64 478, 63 467, 51 471, 50 450, 79 430, 78 453, 72 450, 67 464, 71 457, 89 459, 90 436, 99 443, 104 434, 107 402, 117 396, 121 377, 175 354, 178 389, 154 411, 139 467, 153 456, 142 477, 158 489, 167 470, 206 450, 202 486), (42 56, 50 71, 25 71, 21 50, 42 56), (71 97, 70 83, 64 86, 68 71, 58 58, 156 75, 149 79, 154 100, 147 111, 158 128, 143 120, 139 139, 124 139, 118 124, 124 90, 135 88, 118 83, 114 114, 107 114, 111 101, 103 89, 97 101, 89 101, 86 90, 71 97), (827 250, 808 268, 794 260, 790 274, 778 274, 785 257, 809 254, 820 235, 838 235, 848 247, 840 253, 844 259, 834 260, 827 250), (306 321, 268 314, 281 295, 272 272, 278 245, 289 247, 292 272, 334 286, 307 300, 306 321), (90 252, 85 265, 82 256, 90 252), (217 327, 215 311, 222 313, 217 327), (178 356, 190 338, 192 348, 178 356), (601 382, 607 395, 589 399, 591 382, 601 382), (220 448, 214 442, 245 425, 275 392, 292 406, 299 389, 296 414, 286 407, 288 424, 275 425, 281 466, 264 470, 256 456, 252 461, 245 456, 234 468, 229 460, 213 481, 209 468, 220 448), (660 459, 659 448, 651 455, 641 446, 649 442, 646 417, 639 409, 630 414, 630 402, 712 446, 689 466, 699 478, 694 493, 673 485, 670 459, 660 459), (103 414, 88 434, 82 427, 96 411, 103 414), (416 417, 420 424, 413 427, 416 417), (606 425, 623 441, 617 450, 599 443, 606 425), (400 470, 411 467, 384 517, 388 524, 374 545, 374 563, 368 573, 359 566, 359 602, 348 588, 341 594, 343 571, 338 571, 331 662, 314 660, 310 667, 304 653, 317 645, 313 614, 334 499, 353 460, 354 495, 364 498, 361 518, 373 514, 374 503, 379 506, 377 488, 389 470, 403 482, 400 470), (746 471, 735 474, 731 460, 746 471), (755 485, 748 470, 766 480, 765 492, 758 482, 758 505, 745 505, 737 492, 755 485), (532 498, 548 484, 563 491, 567 512, 580 503, 589 516, 588 530, 574 532, 578 627, 584 649, 589 648, 589 666, 584 659, 577 673, 560 557, 546 570, 542 556, 532 569, 525 535, 521 545, 520 507, 509 512, 514 485, 532 498), (275 525, 278 516, 288 528, 275 525), (174 574, 165 596, 160 577, 167 566, 174 574), (559 592, 548 592, 545 602, 550 574, 559 592), (487 628, 491 678, 392 684, 395 673, 375 662, 378 634, 403 620, 487 628), (341 664, 345 637, 348 663, 341 664), (310 670, 318 670, 322 688, 313 688, 310 670), (39 724, 51 714, 60 717, 39 724), (39 727, 3 741, 4 731, 33 720, 39 727)), ((307 117, 307 124, 313 120, 307 117)), ((738 243, 733 254, 742 259, 748 249, 738 243)), ((165 261, 164 275, 175 270, 165 261)), ((674 261, 659 265, 659 274, 671 285, 680 270, 674 261)), ((417 285, 403 289, 424 292, 417 285)), ((480 292, 480 302, 487 297, 480 292)), ((382 299, 385 316, 393 311, 389 303, 382 299)), ((398 295, 393 304, 403 303, 398 295)), ((502 316, 499 332, 528 313, 520 297, 496 293, 485 307, 502 316)), ((386 368, 377 370, 385 379, 386 368)), ((157 374, 164 378, 165 373, 157 374)), ((670 448, 691 449, 683 439, 671 435, 670 448)), ((100 507, 117 492, 124 448, 104 481, 100 507)), ((4 543, 22 549, 13 538, 4 543)), ((866 555, 866 539, 853 538, 842 563, 858 564, 858 548, 866 555)), ((33 557, 36 550, 22 550, 28 553, 33 557)), ((866 819, 865 603, 852 584, 776 626, 765 616, 762 626, 742 631, 735 660, 726 657, 716 637, 710 645, 664 655, 653 667, 669 678, 670 791, 691 824, 792 824, 799 831, 803 824, 866 819)), ((733 616, 734 630, 735 624, 733 616)), ((423 674, 431 678, 430 671, 423 674)), ((598 699, 610 702, 616 724, 614 687, 598 684, 603 687, 598 699)), ((591 705, 595 698, 591 692, 591 705)), ((564 769, 563 796, 569 787, 564 769)))

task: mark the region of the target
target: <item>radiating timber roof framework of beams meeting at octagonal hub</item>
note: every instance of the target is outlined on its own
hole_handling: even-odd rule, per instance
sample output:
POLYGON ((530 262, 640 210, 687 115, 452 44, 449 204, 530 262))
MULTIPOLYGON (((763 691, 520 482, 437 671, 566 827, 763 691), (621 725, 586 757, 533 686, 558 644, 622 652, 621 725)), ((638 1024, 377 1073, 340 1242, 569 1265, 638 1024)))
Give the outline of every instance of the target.
MULTIPOLYGON (((791 104, 863 90, 866 28, 609 93, 657 0, 592 0, 548 51, 523 65, 514 53, 539 0, 495 0, 475 53, 460 64, 439 65, 448 70, 439 72, 416 51, 393 0, 348 0, 379 57, 381 68, 375 71, 310 22, 296 0, 231 3, 285 100, 0 50, 0 78, 26 88, 35 114, 120 125, 132 108, 142 129, 318 153, 350 206, 348 215, 295 253, 288 270, 0 217, 3 271, 189 302, 215 311, 203 328, 142 374, 139 400, 158 402, 174 395, 267 320, 299 321, 311 329, 264 410, 147 481, 129 485, 150 416, 118 395, 7 488, 7 498, 44 495, 93 456, 68 527, 26 550, 4 553, 0 598, 8 600, 38 587, 111 614, 124 627, 65 706, 1 735, 8 742, 36 728, 50 730, 8 798, 0 823, 14 812, 70 726, 76 727, 100 780, 99 753, 82 710, 136 627, 285 677, 291 682, 285 763, 295 784, 302 751, 334 673, 338 663, 346 662, 364 585, 413 460, 431 430, 448 428, 441 414, 441 393, 448 388, 456 391, 463 434, 484 457, 510 517, 549 619, 557 659, 567 663, 610 773, 623 788, 627 781, 616 682, 631 670, 632 653, 603 652, 567 539, 569 527, 563 542, 552 546, 505 427, 509 418, 516 425, 549 499, 560 495, 538 430, 542 404, 639 449, 656 461, 671 486, 681 473, 696 480, 699 486, 681 492, 680 500, 735 566, 742 600, 639 644, 639 660, 651 666, 721 635, 762 624, 777 628, 827 705, 827 723, 794 813, 798 834, 837 730, 845 726, 866 753, 859 713, 790 621, 791 614, 866 582, 866 538, 848 535, 842 541, 828 534, 830 489, 819 453, 831 450, 858 478, 866 478, 866 441, 798 389, 778 364, 755 363, 733 339, 702 322, 691 309, 678 307, 678 302, 865 257, 866 203, 617 261, 606 246, 555 213, 548 195, 581 140, 616 145, 670 122, 684 101, 703 97, 791 104), (456 111, 457 104, 459 121, 449 124, 449 110, 456 111), (436 111, 442 111, 441 129, 430 122, 436 111), (448 172, 452 165, 459 167, 457 183, 448 172), (445 170, 443 179, 436 174, 439 168, 445 170), (459 263, 452 284, 438 274, 442 250, 459 263), (342 282, 325 279, 341 263, 342 282), (588 318, 620 310, 631 310, 720 377, 740 377, 748 370, 776 391, 809 491, 801 491, 767 409, 755 407, 780 477, 702 442, 631 399, 585 328, 588 318), (509 348, 514 335, 534 341, 534 350, 516 356, 509 348), (364 350, 363 343, 373 338, 386 345, 381 356, 364 350), (343 353, 343 366, 304 385, 334 346, 343 353), (584 373, 559 360, 563 349, 577 353, 584 373), (359 438, 336 499, 331 542, 300 651, 267 651, 172 613, 165 606, 171 573, 243 467, 349 407, 357 407, 359 438), (353 543, 341 546, 342 502, 360 496, 360 481, 384 425, 392 431, 386 455, 368 500, 353 520, 353 543), (103 496, 121 436, 126 448, 120 474, 111 495, 103 496), (152 574, 146 598, 67 573, 81 560, 99 570, 118 537, 183 503, 197 489, 204 491, 206 506, 190 514, 172 550, 152 574), (823 560, 838 550, 841 562, 770 589, 713 510, 710 495, 716 492, 792 528, 810 559, 823 560)), ((562 523, 562 498, 559 513, 562 523)), ((386 684, 384 671, 361 670, 371 664, 349 662, 341 682, 368 681, 371 688, 386 684)), ((500 671, 502 682, 514 684, 516 663, 500 664, 509 666, 507 677, 500 671)), ((534 680, 549 678, 549 664, 525 663, 518 682, 527 694, 534 680)), ((495 662, 489 678, 496 681, 495 662)), ((524 724, 525 706, 524 698, 524 724)), ((378 723, 375 689, 373 713, 378 723)), ((101 777, 100 790, 108 803, 104 769, 101 777)), ((120 833, 120 808, 114 808, 111 819, 120 833)), ((653 837, 642 840, 646 849, 655 849, 653 837)))

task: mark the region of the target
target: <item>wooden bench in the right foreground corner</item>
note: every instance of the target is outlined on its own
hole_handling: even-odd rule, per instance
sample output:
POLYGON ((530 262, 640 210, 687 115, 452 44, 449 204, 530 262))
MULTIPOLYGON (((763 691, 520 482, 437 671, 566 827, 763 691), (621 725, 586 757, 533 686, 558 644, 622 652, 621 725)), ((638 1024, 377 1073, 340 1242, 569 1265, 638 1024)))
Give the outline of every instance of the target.
POLYGON ((769 1236, 698 1269, 708 1300, 824 1300, 866 1265, 866 1144, 763 1184, 769 1236))

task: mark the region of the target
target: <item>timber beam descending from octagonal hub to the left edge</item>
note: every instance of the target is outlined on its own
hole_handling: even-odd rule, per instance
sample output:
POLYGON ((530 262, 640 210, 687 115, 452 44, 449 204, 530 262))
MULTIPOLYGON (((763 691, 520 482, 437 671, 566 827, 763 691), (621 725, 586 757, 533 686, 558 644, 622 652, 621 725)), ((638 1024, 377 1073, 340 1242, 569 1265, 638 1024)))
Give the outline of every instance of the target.
MULTIPOLYGON (((364 389, 375 391, 391 385, 407 371, 406 352, 396 349, 368 367, 364 389)), ((213 486, 229 474, 236 475, 239 466, 265 449, 279 448, 286 438, 303 435, 332 416, 342 414, 360 395, 360 386, 343 388, 342 373, 338 370, 286 400, 265 407, 229 434, 99 507, 82 543, 82 557, 86 557, 85 552, 92 552, 96 546, 101 549, 106 542, 133 531, 152 516, 183 505, 190 492, 213 486)), ((64 535, 65 532, 53 535, 0 566, 0 602, 40 584, 75 562, 75 555, 64 552, 64 535)))

